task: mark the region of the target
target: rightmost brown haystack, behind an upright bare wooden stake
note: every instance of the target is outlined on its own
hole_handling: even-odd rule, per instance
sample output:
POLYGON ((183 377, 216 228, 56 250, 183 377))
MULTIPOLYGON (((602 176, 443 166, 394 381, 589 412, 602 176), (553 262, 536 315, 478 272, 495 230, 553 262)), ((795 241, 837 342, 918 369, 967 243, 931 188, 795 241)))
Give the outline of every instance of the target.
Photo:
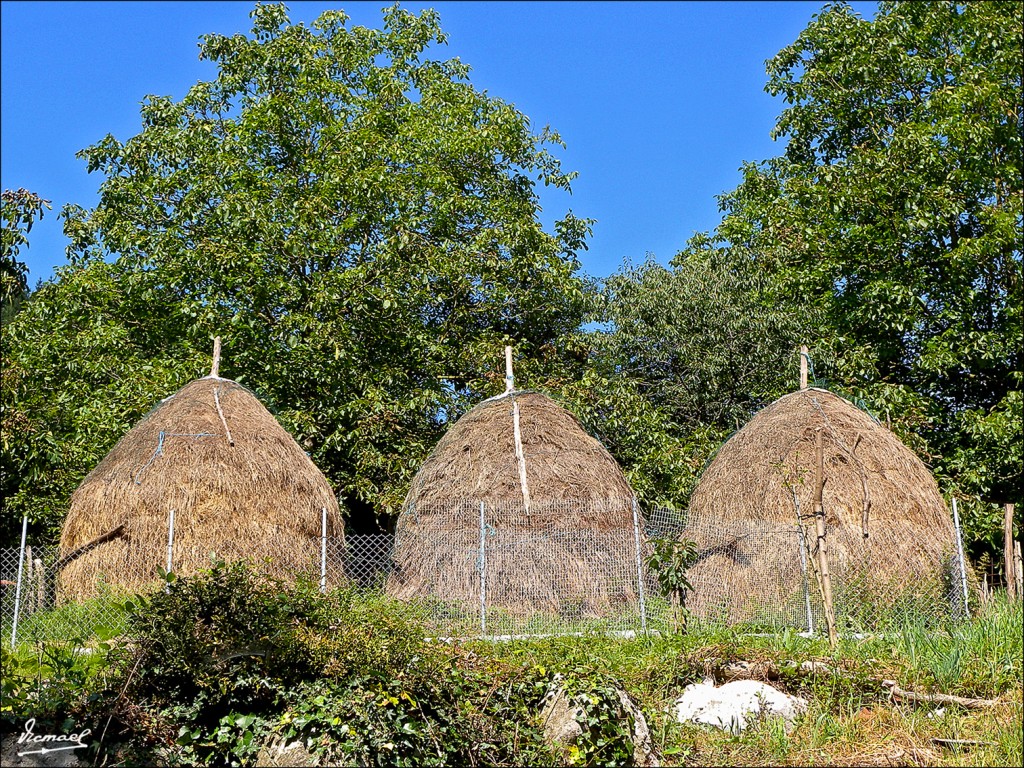
POLYGON ((800 545, 801 526, 811 550, 815 544, 819 429, 837 611, 877 611, 914 591, 939 598, 949 589, 942 571, 953 562, 956 539, 931 473, 866 413, 810 388, 758 413, 722 446, 693 493, 685 536, 702 553, 689 571, 695 589, 688 607, 697 614, 736 621, 788 606, 800 615, 802 603, 819 602, 813 563, 800 545))

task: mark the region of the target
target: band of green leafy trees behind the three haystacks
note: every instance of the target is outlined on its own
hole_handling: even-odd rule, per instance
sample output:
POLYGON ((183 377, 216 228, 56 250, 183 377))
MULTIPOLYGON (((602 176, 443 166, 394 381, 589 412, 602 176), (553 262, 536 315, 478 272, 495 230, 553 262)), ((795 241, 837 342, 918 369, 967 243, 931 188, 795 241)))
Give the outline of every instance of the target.
POLYGON ((815 380, 959 498, 971 554, 997 550, 1000 505, 1024 510, 1019 3, 826 6, 768 62, 783 154, 744 166, 721 224, 667 267, 603 285, 580 270, 589 220, 540 223, 536 185, 573 177, 560 137, 437 59, 436 13, 251 15, 249 36, 202 39, 212 80, 80 153, 99 202, 62 210, 70 263, 26 299, 17 256, 46 201, 4 193, 0 541, 23 514, 52 536, 220 335, 223 373, 362 527, 501 389, 506 343, 642 501, 685 508, 806 342, 815 380))

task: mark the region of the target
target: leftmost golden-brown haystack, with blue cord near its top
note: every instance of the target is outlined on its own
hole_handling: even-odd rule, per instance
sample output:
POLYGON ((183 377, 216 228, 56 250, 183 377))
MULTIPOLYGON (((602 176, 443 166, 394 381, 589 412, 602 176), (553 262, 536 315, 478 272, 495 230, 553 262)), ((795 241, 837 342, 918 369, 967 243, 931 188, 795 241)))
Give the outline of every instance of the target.
POLYGON ((228 379, 198 379, 125 434, 72 496, 59 599, 92 596, 99 581, 152 583, 167 564, 171 510, 177 574, 209 567, 212 553, 279 575, 309 571, 325 508, 328 536, 341 537, 327 478, 256 396, 228 379))

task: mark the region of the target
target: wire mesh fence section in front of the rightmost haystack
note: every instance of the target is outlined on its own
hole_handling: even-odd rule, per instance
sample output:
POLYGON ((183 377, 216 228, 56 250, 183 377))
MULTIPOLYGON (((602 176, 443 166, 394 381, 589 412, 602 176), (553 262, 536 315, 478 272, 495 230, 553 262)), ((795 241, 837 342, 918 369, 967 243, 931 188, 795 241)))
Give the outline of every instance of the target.
MULTIPOLYGON (((652 540, 696 545, 686 608, 698 622, 824 631, 816 536, 806 520, 726 521, 655 508, 647 531, 652 540)), ((957 557, 956 541, 922 546, 944 536, 909 522, 876 526, 867 538, 826 525, 837 629, 850 634, 966 616, 972 577, 957 557)))

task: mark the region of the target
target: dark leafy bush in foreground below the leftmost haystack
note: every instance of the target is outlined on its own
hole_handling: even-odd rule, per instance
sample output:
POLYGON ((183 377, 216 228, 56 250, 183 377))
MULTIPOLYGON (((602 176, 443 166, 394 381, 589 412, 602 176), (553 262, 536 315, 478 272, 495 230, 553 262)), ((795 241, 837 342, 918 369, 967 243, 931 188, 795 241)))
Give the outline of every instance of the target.
POLYGON ((273 739, 368 765, 543 757, 528 725, 541 683, 456 666, 458 654, 424 634, 408 605, 381 595, 322 595, 216 563, 138 606, 111 687, 129 703, 119 728, 143 741, 174 732, 168 754, 198 764, 251 763, 273 739), (133 707, 142 703, 157 724, 139 734, 133 707), (521 733, 505 733, 503 718, 521 718, 521 733))

